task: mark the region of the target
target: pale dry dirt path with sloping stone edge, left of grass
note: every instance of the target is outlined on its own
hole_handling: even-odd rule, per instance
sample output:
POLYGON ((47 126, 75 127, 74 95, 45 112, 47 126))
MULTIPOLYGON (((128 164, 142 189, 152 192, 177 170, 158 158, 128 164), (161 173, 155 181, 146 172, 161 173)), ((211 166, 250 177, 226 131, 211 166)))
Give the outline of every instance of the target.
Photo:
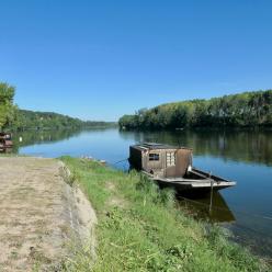
POLYGON ((0 158, 1 272, 57 270, 71 237, 93 247, 95 214, 63 172, 54 159, 0 158))

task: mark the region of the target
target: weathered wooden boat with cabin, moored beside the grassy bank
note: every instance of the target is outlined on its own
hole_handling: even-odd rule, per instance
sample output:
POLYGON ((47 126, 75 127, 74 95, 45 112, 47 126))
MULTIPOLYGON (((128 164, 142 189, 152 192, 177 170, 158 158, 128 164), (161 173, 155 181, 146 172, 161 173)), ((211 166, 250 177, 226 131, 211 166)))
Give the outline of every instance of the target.
POLYGON ((235 186, 236 182, 193 167, 192 149, 157 143, 143 143, 129 147, 128 161, 161 188, 183 192, 211 192, 235 186))

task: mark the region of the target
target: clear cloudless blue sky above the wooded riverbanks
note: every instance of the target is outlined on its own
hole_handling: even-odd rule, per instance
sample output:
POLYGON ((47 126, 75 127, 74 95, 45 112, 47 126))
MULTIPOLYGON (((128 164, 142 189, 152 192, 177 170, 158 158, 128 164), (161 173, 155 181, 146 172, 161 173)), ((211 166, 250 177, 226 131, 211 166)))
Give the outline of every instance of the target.
POLYGON ((0 0, 0 81, 22 109, 117 120, 272 88, 272 1, 0 0))

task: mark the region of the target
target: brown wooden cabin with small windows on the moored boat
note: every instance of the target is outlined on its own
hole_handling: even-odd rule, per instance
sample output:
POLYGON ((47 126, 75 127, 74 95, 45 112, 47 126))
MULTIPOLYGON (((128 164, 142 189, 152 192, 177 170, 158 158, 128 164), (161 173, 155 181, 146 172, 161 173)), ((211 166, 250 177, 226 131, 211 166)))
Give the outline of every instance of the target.
POLYGON ((129 147, 129 162, 158 178, 184 177, 192 167, 192 149, 144 143, 129 147))

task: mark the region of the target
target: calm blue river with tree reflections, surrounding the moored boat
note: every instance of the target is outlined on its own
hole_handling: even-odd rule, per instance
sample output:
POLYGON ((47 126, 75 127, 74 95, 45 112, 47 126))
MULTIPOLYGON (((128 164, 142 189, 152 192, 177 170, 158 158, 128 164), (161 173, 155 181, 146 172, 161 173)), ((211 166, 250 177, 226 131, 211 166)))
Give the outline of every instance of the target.
MULTIPOLYGON (((194 150, 194 166, 237 181, 237 186, 209 197, 184 200, 199 218, 223 224, 234 239, 272 258, 272 132, 162 132, 134 133, 118 129, 87 132, 23 133, 19 154, 59 157, 91 156, 115 163, 128 157, 128 146, 139 141, 188 146, 194 150)), ((127 162, 115 165, 127 169, 127 162)))

